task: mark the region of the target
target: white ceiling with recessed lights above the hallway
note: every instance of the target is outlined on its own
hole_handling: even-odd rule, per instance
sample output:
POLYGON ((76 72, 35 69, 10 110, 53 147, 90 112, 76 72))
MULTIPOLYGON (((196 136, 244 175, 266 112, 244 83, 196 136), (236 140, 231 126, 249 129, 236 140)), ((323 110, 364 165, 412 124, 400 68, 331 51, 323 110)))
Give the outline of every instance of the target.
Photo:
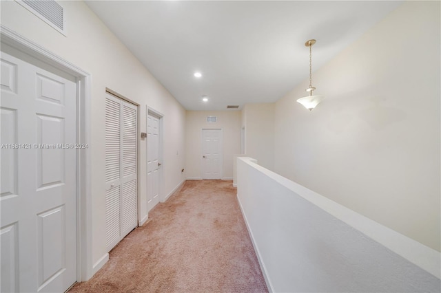
POLYGON ((86 1, 188 110, 275 102, 308 78, 307 40, 314 71, 401 2, 86 1))

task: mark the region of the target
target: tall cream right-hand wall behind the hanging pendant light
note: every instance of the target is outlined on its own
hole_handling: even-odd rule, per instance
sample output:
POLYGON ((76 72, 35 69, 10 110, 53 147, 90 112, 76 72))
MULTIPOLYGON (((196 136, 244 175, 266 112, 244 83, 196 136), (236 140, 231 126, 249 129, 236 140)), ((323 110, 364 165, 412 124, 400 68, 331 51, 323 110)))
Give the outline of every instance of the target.
POLYGON ((438 251, 440 35, 440 2, 406 1, 314 72, 314 111, 309 80, 278 100, 274 168, 438 251))

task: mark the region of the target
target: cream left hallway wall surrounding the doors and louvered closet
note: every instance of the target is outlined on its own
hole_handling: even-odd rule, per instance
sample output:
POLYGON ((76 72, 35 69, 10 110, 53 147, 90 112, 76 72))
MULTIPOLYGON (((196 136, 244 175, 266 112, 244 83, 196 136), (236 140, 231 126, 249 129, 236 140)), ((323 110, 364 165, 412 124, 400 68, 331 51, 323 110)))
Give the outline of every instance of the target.
MULTIPOLYGON (((139 132, 146 132, 147 107, 164 114, 162 193, 170 193, 184 180, 185 109, 141 65, 83 1, 61 1, 66 16, 66 36, 34 16, 15 1, 1 1, 1 24, 45 47, 92 74, 92 263, 107 253, 105 248, 105 88, 139 106, 139 132)), ((146 210, 146 141, 139 140, 139 193, 146 210)))

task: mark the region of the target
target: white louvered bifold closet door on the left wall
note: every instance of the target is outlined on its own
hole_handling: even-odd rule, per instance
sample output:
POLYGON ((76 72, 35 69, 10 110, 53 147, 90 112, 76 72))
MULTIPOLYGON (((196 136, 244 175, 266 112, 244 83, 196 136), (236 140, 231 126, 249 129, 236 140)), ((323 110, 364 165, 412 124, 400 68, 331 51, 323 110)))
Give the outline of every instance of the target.
POLYGON ((106 246, 136 227, 136 106, 106 94, 105 221, 106 246))

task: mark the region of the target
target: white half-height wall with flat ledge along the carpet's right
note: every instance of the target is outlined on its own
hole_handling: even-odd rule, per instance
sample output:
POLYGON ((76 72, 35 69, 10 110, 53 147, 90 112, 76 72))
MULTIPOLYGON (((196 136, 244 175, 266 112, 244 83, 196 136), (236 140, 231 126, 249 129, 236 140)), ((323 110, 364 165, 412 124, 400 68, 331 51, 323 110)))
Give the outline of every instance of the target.
POLYGON ((440 292, 440 252, 254 161, 238 201, 271 292, 440 292))

